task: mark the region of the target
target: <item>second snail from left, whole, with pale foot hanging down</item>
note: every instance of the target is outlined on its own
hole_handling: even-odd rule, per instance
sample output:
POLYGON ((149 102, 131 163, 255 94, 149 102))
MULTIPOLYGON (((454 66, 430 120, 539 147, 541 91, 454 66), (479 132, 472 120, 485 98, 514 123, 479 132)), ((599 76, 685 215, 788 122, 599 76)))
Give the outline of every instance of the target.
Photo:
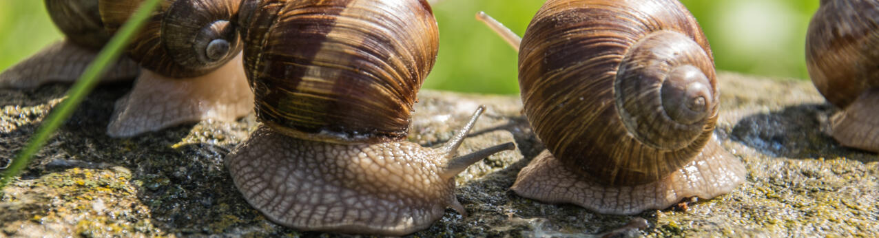
MULTIPOLYGON (((100 0, 115 32, 142 1, 100 0)), ((117 102, 107 134, 128 137, 203 119, 234 120, 251 111, 241 40, 240 0, 165 0, 137 33, 128 54, 142 66, 117 102)))

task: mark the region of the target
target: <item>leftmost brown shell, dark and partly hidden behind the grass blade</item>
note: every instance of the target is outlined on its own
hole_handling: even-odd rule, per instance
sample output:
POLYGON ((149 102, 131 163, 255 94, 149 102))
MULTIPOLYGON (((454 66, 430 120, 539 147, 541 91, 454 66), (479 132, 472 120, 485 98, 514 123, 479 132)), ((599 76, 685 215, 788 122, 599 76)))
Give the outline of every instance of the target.
POLYGON ((46 0, 54 25, 79 46, 99 49, 110 40, 98 13, 98 0, 46 0))

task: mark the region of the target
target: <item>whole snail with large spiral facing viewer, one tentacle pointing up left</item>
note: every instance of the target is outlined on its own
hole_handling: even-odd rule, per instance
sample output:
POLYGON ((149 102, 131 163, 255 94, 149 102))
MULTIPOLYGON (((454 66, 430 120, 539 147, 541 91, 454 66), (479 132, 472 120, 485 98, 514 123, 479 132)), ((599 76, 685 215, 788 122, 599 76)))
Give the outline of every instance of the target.
POLYGON ((745 167, 713 134, 714 59, 701 28, 674 0, 548 0, 520 39, 519 89, 548 150, 512 191, 598 213, 664 209, 714 198, 745 167))

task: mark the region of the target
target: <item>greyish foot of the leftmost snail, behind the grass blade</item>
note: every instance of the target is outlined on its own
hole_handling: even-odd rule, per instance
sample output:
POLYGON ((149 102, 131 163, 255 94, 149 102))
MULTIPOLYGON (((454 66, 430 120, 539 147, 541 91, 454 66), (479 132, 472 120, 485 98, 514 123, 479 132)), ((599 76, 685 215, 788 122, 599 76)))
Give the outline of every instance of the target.
MULTIPOLYGON (((0 89, 31 89, 45 83, 74 82, 96 56, 98 51, 77 46, 69 40, 54 42, 0 73, 0 89)), ((102 81, 131 80, 137 76, 138 69, 136 62, 123 56, 107 70, 102 81)))

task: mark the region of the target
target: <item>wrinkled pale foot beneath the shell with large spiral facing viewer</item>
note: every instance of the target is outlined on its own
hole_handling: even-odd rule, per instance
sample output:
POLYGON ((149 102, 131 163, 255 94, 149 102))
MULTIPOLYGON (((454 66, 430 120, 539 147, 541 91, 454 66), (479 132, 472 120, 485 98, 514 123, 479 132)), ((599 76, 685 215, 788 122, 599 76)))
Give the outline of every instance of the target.
POLYGON ((745 182, 745 165, 718 141, 708 141, 692 162, 659 181, 607 186, 587 181, 559 162, 548 150, 519 172, 512 191, 547 203, 570 203, 608 214, 636 214, 665 209, 682 198, 714 198, 745 182))

